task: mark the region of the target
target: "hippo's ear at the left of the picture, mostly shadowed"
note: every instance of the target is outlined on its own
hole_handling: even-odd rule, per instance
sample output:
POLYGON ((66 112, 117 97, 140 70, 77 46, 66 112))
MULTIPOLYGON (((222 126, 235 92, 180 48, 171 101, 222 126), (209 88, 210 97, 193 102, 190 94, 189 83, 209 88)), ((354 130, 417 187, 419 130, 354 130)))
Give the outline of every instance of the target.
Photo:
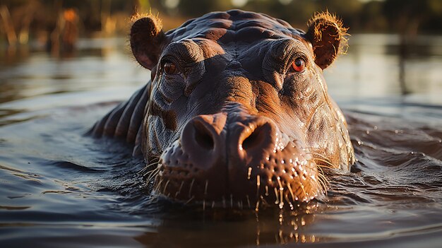
POLYGON ((136 15, 131 28, 131 49, 138 63, 146 69, 152 70, 160 57, 165 33, 162 32, 161 20, 157 16, 148 14, 136 15))

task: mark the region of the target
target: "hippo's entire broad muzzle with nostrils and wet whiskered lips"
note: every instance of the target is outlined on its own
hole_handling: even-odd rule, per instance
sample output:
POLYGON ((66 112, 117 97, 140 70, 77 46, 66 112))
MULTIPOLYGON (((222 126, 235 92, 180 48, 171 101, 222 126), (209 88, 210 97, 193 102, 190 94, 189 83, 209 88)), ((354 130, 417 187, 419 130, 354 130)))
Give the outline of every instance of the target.
POLYGON ((266 117, 222 112, 193 117, 162 153, 156 193, 179 201, 258 207, 309 201, 321 191, 316 164, 266 117))

